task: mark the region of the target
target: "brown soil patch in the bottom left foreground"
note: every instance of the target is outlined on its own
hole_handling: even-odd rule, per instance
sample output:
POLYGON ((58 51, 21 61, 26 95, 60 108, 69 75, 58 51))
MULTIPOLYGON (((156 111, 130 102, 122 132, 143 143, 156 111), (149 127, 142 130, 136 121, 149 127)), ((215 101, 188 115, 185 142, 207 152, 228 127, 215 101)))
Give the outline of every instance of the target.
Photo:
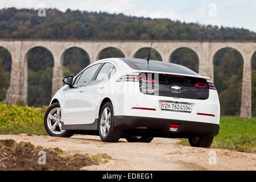
POLYGON ((59 148, 35 147, 30 142, 0 140, 0 170, 79 170, 85 166, 98 165, 97 161, 82 154, 70 154, 59 148), (40 151, 46 152, 46 164, 40 151), (40 155, 39 155, 40 154, 40 155))

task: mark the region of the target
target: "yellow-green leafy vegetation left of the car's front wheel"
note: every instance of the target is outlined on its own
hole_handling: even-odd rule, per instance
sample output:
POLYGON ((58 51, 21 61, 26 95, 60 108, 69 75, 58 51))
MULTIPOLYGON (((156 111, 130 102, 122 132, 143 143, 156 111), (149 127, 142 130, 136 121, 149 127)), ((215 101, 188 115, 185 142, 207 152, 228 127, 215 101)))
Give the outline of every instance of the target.
POLYGON ((43 125, 46 109, 0 103, 0 134, 46 135, 43 125))

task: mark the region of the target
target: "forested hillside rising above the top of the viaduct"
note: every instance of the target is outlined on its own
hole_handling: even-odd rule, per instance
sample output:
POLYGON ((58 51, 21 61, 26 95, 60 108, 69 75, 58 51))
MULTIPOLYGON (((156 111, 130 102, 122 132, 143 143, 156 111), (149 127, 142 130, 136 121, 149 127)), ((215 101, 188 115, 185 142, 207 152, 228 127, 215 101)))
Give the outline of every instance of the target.
POLYGON ((256 33, 243 28, 69 9, 47 9, 46 17, 39 17, 34 9, 9 8, 0 10, 0 38, 226 40, 256 39, 256 33))

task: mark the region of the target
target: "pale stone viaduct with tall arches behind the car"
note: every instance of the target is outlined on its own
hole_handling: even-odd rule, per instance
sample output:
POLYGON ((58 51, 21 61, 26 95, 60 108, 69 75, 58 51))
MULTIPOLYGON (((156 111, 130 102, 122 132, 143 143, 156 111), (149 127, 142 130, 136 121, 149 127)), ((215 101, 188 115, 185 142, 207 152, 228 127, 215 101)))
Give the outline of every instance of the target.
MULTIPOLYGON (((125 57, 134 57, 135 53, 145 47, 150 47, 150 40, 17 40, 2 39, 0 47, 10 52, 11 81, 10 103, 18 101, 27 103, 27 56, 32 48, 48 49, 54 59, 52 93, 63 86, 64 52, 72 47, 84 49, 88 53, 90 63, 96 61, 103 49, 113 47, 122 51, 125 57)), ((256 42, 246 41, 160 41, 154 40, 153 46, 160 53, 163 61, 170 61, 172 52, 179 48, 189 48, 196 52, 199 58, 199 74, 213 79, 213 57, 223 48, 234 48, 243 57, 243 78, 241 97, 241 117, 251 117, 251 57, 256 51, 256 42)))

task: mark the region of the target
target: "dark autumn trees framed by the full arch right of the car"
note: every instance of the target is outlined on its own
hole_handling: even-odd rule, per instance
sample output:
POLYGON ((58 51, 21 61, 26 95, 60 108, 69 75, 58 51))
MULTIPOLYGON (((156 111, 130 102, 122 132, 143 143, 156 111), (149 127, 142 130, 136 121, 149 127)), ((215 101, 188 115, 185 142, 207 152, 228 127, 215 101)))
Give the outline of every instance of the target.
POLYGON ((222 115, 239 115, 243 59, 236 49, 221 49, 214 56, 214 85, 218 90, 222 115))

